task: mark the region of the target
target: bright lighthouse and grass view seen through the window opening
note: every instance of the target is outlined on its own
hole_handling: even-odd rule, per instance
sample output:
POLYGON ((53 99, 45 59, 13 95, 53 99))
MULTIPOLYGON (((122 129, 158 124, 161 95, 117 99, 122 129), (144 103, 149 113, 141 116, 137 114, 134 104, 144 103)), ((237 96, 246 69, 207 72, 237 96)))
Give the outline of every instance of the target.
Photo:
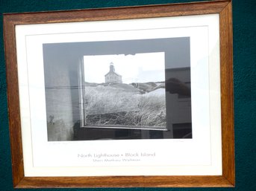
POLYGON ((166 129, 164 53, 84 56, 85 126, 166 129))

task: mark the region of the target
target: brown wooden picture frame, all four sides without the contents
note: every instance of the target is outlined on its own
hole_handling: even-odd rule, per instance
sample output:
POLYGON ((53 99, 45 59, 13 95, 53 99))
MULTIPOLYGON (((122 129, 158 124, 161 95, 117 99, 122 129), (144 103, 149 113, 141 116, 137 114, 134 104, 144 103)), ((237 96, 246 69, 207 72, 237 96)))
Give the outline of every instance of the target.
POLYGON ((205 1, 141 7, 4 14, 7 101, 13 187, 234 187, 234 98, 231 1, 205 1), (65 22, 219 15, 222 175, 25 176, 16 54, 16 26, 65 22))

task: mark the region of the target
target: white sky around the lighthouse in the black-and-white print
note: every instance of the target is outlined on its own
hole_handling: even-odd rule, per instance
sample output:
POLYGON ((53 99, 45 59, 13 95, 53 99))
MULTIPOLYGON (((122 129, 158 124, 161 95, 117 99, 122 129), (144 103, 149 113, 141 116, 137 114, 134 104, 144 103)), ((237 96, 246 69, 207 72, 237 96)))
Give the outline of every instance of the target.
POLYGON ((104 82, 113 62, 116 73, 122 75, 122 82, 159 82, 165 80, 164 52, 134 55, 84 56, 84 81, 104 82))

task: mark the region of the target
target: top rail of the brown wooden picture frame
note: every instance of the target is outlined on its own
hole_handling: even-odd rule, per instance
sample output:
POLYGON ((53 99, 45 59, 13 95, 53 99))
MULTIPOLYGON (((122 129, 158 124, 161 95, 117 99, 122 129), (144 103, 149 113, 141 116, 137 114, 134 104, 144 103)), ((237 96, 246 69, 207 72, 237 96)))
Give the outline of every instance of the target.
POLYGON ((104 21, 113 19, 143 19, 163 16, 187 16, 219 13, 228 1, 207 1, 187 4, 149 5, 141 7, 113 7, 89 10, 67 10, 40 13, 5 14, 15 25, 104 21))

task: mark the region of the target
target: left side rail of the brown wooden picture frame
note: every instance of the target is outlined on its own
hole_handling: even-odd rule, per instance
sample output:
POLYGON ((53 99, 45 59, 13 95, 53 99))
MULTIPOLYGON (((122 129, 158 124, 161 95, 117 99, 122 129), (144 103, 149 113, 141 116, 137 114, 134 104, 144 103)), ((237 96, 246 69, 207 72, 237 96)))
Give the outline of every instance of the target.
POLYGON ((16 61, 16 38, 13 22, 4 18, 4 49, 7 75, 7 101, 10 126, 10 144, 13 168, 13 184, 24 178, 22 132, 19 111, 19 83, 16 61))

